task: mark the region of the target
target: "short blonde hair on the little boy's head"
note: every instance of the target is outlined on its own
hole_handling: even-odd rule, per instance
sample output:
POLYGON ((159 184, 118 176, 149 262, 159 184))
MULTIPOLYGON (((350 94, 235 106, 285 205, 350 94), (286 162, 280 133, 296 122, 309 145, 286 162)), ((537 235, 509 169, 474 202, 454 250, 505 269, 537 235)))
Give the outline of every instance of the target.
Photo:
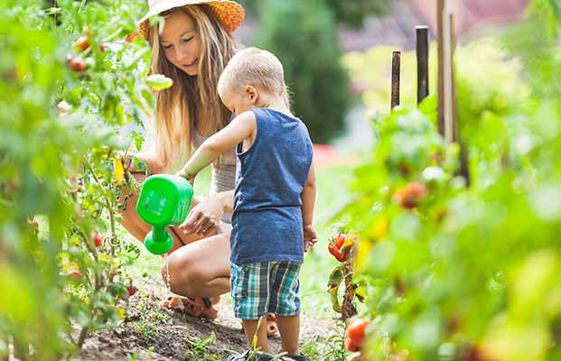
POLYGON ((222 71, 217 90, 222 96, 243 92, 248 85, 288 101, 283 64, 269 51, 258 48, 239 51, 222 71))

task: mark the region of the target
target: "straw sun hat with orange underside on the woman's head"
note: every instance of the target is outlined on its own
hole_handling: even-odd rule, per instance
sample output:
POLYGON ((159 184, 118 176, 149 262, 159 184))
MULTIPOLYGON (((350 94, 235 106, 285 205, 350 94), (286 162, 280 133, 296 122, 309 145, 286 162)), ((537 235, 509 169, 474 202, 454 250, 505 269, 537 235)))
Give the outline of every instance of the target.
POLYGON ((173 7, 207 4, 217 15, 227 32, 234 32, 244 20, 244 8, 233 0, 148 0, 148 13, 138 21, 138 32, 128 35, 126 40, 145 38, 148 33, 149 19, 173 7))

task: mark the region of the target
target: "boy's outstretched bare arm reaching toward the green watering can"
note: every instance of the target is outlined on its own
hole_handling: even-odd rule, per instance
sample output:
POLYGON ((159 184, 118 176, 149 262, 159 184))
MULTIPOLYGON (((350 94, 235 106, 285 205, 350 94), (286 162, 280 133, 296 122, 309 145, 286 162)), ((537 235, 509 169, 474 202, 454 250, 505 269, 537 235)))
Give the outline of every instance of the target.
POLYGON ((257 119, 253 112, 236 116, 224 129, 204 141, 177 174, 192 179, 201 169, 214 162, 220 154, 241 143, 255 132, 257 119))

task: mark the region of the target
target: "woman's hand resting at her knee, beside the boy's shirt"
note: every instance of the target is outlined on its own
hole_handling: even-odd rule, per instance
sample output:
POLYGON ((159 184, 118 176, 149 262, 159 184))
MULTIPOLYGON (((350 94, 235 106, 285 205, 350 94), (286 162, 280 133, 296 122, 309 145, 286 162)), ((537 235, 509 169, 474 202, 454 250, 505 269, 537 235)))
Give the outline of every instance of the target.
POLYGON ((211 197, 197 204, 179 226, 185 235, 197 234, 207 236, 216 229, 224 214, 224 204, 220 197, 211 197))

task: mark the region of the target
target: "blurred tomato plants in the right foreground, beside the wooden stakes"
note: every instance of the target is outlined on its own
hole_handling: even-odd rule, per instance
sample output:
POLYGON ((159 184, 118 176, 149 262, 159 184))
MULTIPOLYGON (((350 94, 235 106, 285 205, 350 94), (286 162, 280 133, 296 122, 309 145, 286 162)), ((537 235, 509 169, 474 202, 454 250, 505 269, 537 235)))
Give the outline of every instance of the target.
POLYGON ((343 217, 361 235, 358 278, 368 284, 360 292, 373 320, 367 359, 561 357, 554 5, 530 5, 527 19, 502 35, 507 41, 494 42, 502 47, 494 60, 477 51, 469 66, 465 50, 458 52, 470 188, 454 176, 457 146, 436 133, 435 97, 419 110, 374 119, 371 160, 355 171, 355 198, 343 217), (412 184, 425 190, 417 198, 404 196, 412 184))

